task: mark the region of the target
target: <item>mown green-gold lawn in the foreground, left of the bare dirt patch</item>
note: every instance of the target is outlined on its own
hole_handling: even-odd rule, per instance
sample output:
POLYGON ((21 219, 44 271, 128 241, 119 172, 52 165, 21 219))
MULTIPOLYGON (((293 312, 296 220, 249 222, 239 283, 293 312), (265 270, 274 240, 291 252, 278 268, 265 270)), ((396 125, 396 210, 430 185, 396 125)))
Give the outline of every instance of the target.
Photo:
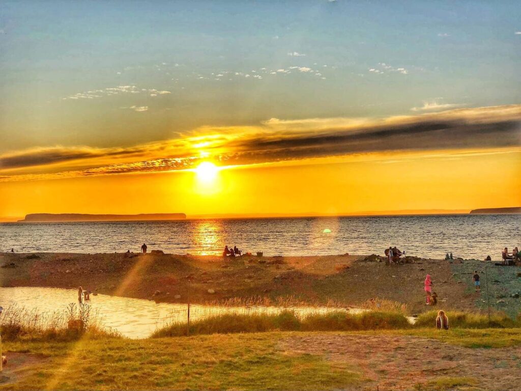
POLYGON ((9 351, 44 353, 49 362, 0 389, 326 390, 364 381, 319 355, 285 355, 278 333, 76 343, 17 341, 9 351), (74 357, 71 361, 65 357, 74 357))

